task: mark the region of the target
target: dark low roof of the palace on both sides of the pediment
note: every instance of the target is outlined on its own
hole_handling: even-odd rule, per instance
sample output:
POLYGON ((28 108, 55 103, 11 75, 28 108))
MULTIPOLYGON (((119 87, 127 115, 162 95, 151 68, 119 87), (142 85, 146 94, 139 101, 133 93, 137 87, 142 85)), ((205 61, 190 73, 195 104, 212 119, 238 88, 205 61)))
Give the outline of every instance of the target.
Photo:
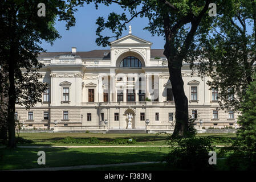
MULTIPOLYGON (((151 57, 165 57, 164 49, 151 49, 151 57)), ((38 58, 52 58, 60 55, 75 55, 80 56, 82 59, 110 59, 110 50, 93 50, 83 52, 41 52, 38 58)))

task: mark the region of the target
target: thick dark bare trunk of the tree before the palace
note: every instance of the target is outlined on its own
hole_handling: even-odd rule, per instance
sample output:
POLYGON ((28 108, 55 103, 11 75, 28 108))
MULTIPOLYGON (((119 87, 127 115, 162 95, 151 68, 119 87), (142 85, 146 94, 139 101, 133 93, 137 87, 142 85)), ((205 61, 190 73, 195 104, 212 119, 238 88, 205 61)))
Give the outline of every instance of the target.
POLYGON ((184 82, 182 80, 181 68, 174 69, 169 67, 169 74, 176 109, 176 124, 172 137, 186 137, 188 134, 188 98, 184 92, 184 82))

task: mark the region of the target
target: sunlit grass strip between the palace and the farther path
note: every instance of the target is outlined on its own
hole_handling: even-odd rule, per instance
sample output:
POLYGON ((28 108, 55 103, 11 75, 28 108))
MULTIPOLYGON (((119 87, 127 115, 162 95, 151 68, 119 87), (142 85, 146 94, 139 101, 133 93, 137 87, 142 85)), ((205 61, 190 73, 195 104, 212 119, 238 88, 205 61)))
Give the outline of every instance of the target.
MULTIPOLYGON (((198 137, 230 137, 235 138, 235 134, 197 134, 198 137)), ((166 134, 94 134, 94 133, 21 133, 20 137, 25 139, 33 140, 32 144, 19 144, 20 146, 108 146, 108 145, 120 145, 115 144, 113 141, 117 138, 133 138, 136 140, 136 143, 130 144, 134 146, 144 145, 144 146, 158 146, 165 145, 165 139, 168 137, 166 134), (96 137, 100 140, 99 144, 90 144, 90 143, 62 143, 66 137, 72 137, 77 139, 90 139, 96 137)), ((225 143, 214 143, 216 145, 222 145, 225 143)))

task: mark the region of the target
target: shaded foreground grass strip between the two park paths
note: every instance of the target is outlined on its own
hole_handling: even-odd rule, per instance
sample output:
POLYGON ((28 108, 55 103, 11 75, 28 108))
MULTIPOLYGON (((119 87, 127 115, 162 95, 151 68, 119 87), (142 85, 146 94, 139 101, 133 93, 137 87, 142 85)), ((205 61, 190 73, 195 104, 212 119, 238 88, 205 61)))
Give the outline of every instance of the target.
POLYGON ((90 164, 160 161, 169 148, 0 148, 0 170, 41 167, 64 167, 90 164), (46 152, 46 165, 38 165, 38 151, 46 152))

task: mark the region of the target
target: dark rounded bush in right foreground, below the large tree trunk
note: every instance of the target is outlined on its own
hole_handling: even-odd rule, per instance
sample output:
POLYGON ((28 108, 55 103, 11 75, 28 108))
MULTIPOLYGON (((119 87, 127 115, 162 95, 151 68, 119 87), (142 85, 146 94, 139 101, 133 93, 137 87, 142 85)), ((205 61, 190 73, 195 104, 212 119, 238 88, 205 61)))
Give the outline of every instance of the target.
POLYGON ((169 166, 185 170, 210 170, 209 152, 213 151, 212 139, 208 137, 191 137, 171 139, 170 152, 165 160, 169 166))

